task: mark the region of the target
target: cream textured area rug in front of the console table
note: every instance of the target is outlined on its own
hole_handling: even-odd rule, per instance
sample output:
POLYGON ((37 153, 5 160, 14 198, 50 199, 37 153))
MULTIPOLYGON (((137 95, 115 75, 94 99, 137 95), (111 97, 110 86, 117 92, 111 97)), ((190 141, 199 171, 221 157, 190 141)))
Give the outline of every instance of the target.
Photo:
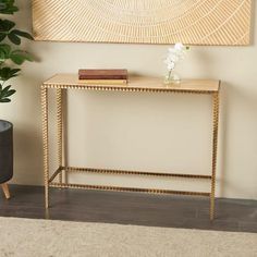
POLYGON ((0 218, 0 256, 256 257, 257 234, 0 218))

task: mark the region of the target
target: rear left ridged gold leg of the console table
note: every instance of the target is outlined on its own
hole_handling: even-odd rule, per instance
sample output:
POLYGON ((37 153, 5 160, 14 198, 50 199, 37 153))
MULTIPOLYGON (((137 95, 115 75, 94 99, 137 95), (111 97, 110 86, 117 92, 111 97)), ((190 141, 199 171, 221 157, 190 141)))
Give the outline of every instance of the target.
MULTIPOLYGON (((58 166, 62 167, 62 142, 63 142, 63 119, 62 119, 62 89, 57 89, 57 137, 58 137, 58 166)), ((62 171, 59 173, 59 183, 62 184, 62 171)))

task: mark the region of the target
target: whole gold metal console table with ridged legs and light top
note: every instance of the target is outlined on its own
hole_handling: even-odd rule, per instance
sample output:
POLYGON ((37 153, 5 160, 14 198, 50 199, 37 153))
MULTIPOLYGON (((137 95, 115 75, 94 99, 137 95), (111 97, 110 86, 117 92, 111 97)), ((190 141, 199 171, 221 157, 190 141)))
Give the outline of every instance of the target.
POLYGON ((103 189, 103 191, 120 191, 120 192, 142 192, 156 194, 176 194, 176 195, 199 195, 210 198, 210 220, 215 218, 215 189, 216 189, 216 166, 217 166, 217 144, 218 144, 218 124, 219 124, 219 91, 220 82, 210 79, 192 79, 182 81, 174 86, 162 84, 161 78, 156 77, 130 77, 130 83, 126 86, 120 85, 87 85, 82 84, 77 79, 76 74, 57 74, 46 81, 41 85, 41 108, 42 108, 42 144, 44 144, 44 173, 45 173, 45 204, 49 207, 49 187, 59 188, 84 188, 84 189, 103 189), (49 176, 49 121, 48 121, 48 89, 57 90, 57 124, 58 124, 58 162, 59 167, 49 176), (212 96, 212 171, 211 174, 181 174, 181 173, 152 173, 144 171, 127 171, 127 170, 107 170, 91 168, 69 167, 65 163, 63 155, 63 90, 66 89, 86 89, 86 90, 112 90, 112 91, 138 91, 138 93, 172 93, 172 94, 203 94, 212 96), (186 191, 170 191, 157 188, 138 188, 138 187, 120 187, 120 186, 103 186, 103 185, 86 185, 71 184, 63 182, 71 172, 88 172, 102 174, 125 174, 125 175, 147 175, 159 178, 184 178, 209 180, 210 192, 186 192, 186 191))

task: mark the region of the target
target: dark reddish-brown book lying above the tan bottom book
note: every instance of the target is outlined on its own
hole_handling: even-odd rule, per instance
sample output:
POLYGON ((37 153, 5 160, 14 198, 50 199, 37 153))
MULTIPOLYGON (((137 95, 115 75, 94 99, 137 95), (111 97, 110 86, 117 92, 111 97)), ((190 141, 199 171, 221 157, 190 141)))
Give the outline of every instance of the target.
POLYGON ((127 70, 78 70, 78 79, 127 79, 127 70))

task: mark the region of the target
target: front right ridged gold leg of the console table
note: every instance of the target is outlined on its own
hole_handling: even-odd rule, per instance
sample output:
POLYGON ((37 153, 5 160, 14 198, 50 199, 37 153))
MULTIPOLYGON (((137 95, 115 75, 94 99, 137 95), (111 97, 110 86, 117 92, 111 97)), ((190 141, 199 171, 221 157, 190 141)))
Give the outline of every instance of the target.
POLYGON ((212 135, 212 174, 210 193, 210 220, 215 219, 215 191, 216 191, 216 168, 217 168, 217 147, 218 147, 218 127, 219 127, 219 93, 212 95, 213 112, 213 135, 212 135))

